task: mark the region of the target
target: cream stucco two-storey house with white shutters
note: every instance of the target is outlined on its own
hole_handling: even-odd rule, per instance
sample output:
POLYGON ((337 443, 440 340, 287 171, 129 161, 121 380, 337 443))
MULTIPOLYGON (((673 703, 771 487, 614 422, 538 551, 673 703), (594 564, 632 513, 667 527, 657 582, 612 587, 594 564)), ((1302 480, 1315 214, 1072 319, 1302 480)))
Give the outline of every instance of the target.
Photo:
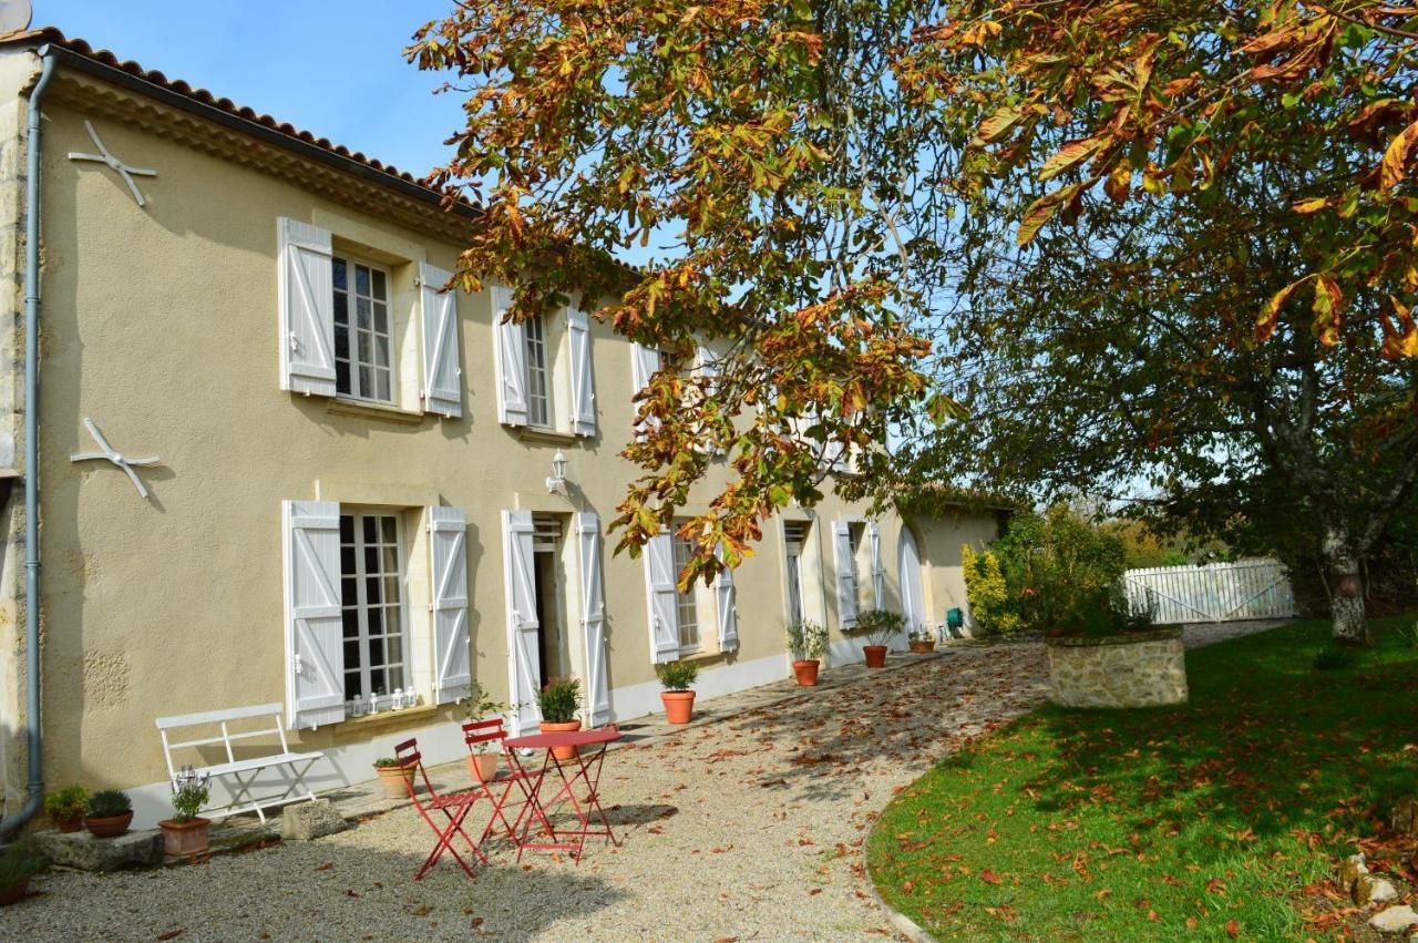
POLYGON ((830 496, 681 596, 672 537, 632 560, 604 533, 655 353, 577 309, 501 325, 496 286, 440 294, 474 210, 52 30, 0 37, 0 174, 7 815, 30 794, 34 681, 44 787, 130 788, 150 822, 157 716, 281 702, 294 746, 328 757, 318 787, 364 780, 406 735, 459 756, 474 678, 530 702, 574 674, 603 723, 659 709, 657 661, 698 659, 700 698, 787 676, 795 615, 830 627, 830 664, 855 661, 859 607, 940 623, 964 606, 961 543, 995 535, 990 510, 868 519, 830 496), (414 706, 391 709, 394 692, 414 706))

